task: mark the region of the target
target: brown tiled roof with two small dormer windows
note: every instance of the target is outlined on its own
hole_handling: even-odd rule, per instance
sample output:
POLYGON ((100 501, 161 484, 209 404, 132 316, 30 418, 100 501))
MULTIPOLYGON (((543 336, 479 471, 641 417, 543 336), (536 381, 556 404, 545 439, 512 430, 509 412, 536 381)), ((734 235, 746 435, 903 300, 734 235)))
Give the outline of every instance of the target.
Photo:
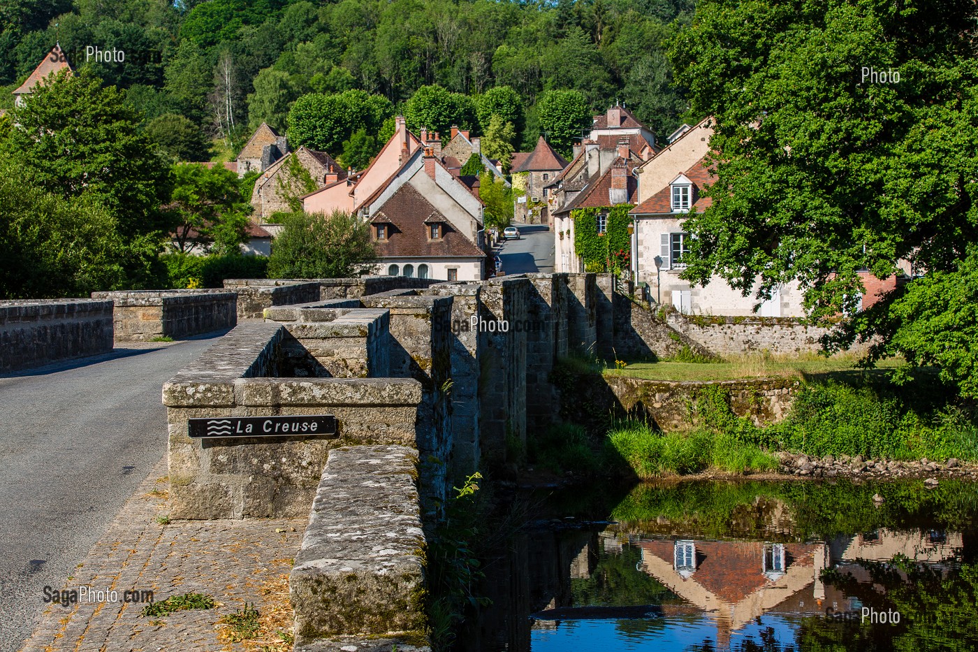
POLYGON ((371 217, 374 223, 393 224, 387 240, 376 241, 378 256, 482 257, 485 253, 435 209, 410 183, 401 186, 371 217), (425 223, 426 222, 426 223, 425 223), (429 240, 427 224, 441 222, 443 235, 429 240))

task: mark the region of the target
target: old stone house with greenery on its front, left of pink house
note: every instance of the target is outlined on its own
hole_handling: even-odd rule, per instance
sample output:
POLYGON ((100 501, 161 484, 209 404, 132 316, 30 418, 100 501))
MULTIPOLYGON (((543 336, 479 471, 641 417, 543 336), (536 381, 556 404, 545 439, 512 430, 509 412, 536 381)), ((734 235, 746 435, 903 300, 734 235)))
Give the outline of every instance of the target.
POLYGON ((333 161, 329 154, 310 150, 303 145, 293 154, 273 163, 255 181, 251 207, 254 209, 254 216, 259 220, 265 221, 275 212, 289 210, 289 194, 295 197, 302 195, 304 189, 299 185, 300 178, 296 178, 289 168, 289 162, 293 158, 319 188, 346 178, 346 170, 333 161))

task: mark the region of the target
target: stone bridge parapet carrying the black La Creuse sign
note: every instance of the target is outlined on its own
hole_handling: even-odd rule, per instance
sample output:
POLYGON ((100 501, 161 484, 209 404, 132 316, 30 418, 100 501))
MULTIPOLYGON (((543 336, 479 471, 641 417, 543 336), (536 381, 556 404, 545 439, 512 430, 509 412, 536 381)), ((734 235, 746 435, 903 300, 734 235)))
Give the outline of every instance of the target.
POLYGON ((187 519, 306 513, 329 451, 339 445, 420 449, 422 386, 410 378, 267 377, 287 328, 240 324, 163 386, 171 516, 187 519), (333 414, 335 436, 195 440, 188 419, 333 414))

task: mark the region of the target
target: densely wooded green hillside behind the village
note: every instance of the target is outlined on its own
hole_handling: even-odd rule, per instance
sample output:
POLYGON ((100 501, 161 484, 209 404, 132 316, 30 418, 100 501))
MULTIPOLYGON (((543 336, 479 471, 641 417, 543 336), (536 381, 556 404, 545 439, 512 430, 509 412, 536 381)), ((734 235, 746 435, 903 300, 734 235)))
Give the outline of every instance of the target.
MULTIPOLYGON (((441 90, 423 91, 408 112, 415 127, 481 131, 499 115, 513 145, 532 148, 537 96, 573 90, 589 112, 617 99, 668 133, 687 107, 664 43, 692 9, 691 0, 9 0, 0 86, 21 82, 60 40, 76 68, 87 45, 124 50, 123 63, 87 66, 128 89, 148 119, 179 114, 237 146, 261 121, 285 130, 309 93, 356 89, 400 105, 434 85, 441 90)), ((362 127, 377 135, 350 125, 328 142, 338 147, 362 127)))

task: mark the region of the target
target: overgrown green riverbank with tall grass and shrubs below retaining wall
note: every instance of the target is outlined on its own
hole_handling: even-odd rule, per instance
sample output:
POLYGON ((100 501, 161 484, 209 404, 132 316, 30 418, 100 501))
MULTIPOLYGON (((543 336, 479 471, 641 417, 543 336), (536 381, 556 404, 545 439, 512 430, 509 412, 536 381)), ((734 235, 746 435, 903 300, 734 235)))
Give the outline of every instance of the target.
MULTIPOLYGON (((650 366, 661 369, 658 365, 663 364, 670 363, 650 366)), ((717 369, 721 364, 689 366, 717 369)), ((784 370, 792 368, 784 362, 776 364, 784 370)), ((603 437, 589 438, 579 427, 561 426, 531 438, 529 461, 557 472, 625 472, 641 479, 708 469, 733 474, 777 470, 780 451, 815 457, 978 461, 975 407, 949 395, 936 376, 923 373, 909 384, 897 385, 884 370, 833 371, 818 364, 818 360, 793 364, 794 369, 809 365, 820 371, 802 378, 800 394, 778 424, 758 427, 735 416, 729 394, 722 387, 708 386, 689 405, 694 425, 684 430, 662 432, 653 424, 616 420, 603 437)), ((720 380, 717 374, 706 376, 695 380, 720 380)), ((677 378, 673 375, 670 380, 677 378)))

